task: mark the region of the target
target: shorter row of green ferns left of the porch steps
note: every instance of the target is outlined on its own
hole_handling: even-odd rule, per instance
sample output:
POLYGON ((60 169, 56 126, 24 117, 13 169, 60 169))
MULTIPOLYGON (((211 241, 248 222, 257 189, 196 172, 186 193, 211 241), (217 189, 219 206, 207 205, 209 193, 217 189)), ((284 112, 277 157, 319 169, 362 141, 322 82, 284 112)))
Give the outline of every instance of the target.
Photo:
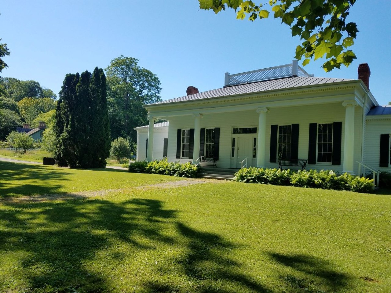
POLYGON ((135 162, 129 164, 129 172, 195 178, 198 167, 190 163, 181 164, 167 161, 135 162))

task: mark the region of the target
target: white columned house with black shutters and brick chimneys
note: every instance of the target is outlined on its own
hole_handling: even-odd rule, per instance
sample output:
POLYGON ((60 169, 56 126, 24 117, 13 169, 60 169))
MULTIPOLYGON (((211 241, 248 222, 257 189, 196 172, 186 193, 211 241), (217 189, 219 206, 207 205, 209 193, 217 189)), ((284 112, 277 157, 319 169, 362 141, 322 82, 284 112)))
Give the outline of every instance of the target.
POLYGON ((205 156, 220 168, 307 159, 307 169, 358 173, 362 163, 389 170, 391 107, 369 91, 368 64, 358 73, 357 80, 314 77, 293 61, 226 73, 223 88, 203 93, 190 86, 187 96, 144 105, 149 125, 135 128, 137 159, 205 156))

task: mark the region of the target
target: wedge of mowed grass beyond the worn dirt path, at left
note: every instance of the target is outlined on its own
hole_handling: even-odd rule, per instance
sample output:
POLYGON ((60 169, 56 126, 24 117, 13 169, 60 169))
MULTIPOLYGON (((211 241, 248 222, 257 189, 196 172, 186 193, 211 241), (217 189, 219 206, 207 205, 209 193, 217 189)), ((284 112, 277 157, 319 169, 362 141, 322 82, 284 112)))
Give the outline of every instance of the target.
POLYGON ((0 161, 0 198, 123 189, 181 180, 108 168, 80 170, 0 161))

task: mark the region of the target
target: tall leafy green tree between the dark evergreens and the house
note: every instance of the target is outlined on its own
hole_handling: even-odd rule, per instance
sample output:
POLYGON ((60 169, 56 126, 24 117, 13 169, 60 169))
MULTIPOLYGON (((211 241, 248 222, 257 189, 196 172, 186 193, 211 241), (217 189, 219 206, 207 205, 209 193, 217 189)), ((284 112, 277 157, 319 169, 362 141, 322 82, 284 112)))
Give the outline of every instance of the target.
POLYGON ((123 55, 111 60, 105 70, 111 138, 122 136, 135 141, 133 127, 147 124, 147 111, 142 105, 161 101, 160 80, 138 66, 138 59, 123 55))

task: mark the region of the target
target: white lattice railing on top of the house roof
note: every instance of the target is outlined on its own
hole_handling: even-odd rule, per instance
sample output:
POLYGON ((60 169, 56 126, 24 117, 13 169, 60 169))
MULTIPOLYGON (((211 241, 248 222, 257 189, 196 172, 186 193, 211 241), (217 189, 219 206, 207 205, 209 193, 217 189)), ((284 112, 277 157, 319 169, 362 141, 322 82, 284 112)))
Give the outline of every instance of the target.
POLYGON ((261 80, 280 79, 283 77, 294 76, 313 77, 314 75, 309 74, 303 68, 298 66, 297 60, 293 60, 292 64, 285 64, 242 73, 230 74, 229 72, 226 72, 224 86, 233 86, 261 80))

